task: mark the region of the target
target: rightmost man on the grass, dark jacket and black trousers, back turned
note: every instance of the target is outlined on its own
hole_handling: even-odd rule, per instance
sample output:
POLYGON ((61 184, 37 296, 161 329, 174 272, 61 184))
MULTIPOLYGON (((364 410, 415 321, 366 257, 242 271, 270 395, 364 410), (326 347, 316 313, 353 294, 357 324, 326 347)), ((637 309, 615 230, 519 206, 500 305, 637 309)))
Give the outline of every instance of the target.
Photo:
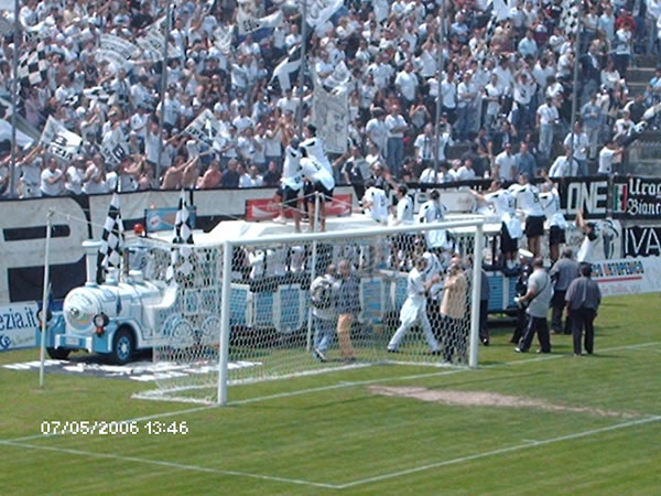
POLYGON ((581 277, 574 279, 567 289, 565 301, 567 312, 573 324, 574 356, 581 356, 581 337, 585 326, 585 352, 592 355, 595 343, 594 321, 597 316, 599 303, 602 303, 602 291, 592 278, 592 265, 581 266, 581 277))

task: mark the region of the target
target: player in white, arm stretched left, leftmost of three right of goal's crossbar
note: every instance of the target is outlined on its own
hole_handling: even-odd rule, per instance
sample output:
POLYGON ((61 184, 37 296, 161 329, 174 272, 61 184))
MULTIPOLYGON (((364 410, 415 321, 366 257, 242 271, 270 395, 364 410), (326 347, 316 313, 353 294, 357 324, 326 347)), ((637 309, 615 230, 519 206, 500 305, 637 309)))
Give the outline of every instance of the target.
POLYGON ((523 235, 521 220, 517 217, 517 198, 508 190, 502 188, 500 180, 495 180, 485 195, 473 193, 478 201, 490 204, 496 215, 502 220, 500 251, 502 252, 505 266, 508 269, 513 269, 517 251, 519 250, 519 239, 523 235))

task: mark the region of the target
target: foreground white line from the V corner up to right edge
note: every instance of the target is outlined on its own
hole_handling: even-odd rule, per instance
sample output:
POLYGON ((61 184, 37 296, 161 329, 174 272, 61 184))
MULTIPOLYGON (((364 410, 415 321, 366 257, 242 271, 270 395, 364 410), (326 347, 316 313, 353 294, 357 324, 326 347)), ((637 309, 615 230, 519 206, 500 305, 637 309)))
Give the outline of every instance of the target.
POLYGON ((348 489, 350 487, 356 487, 356 486, 360 486, 364 484, 377 483, 377 482, 387 481, 390 478, 401 477, 403 475, 416 474, 419 472, 429 471, 431 468, 438 468, 442 466, 456 465, 456 464, 459 464, 463 462, 470 462, 473 460, 486 459, 488 456, 494 456, 494 455, 498 455, 498 454, 511 453, 511 452, 520 451, 520 450, 528 450, 530 448, 543 446, 546 444, 559 443, 562 441, 571 441, 571 440, 575 440, 575 439, 587 438, 589 435, 600 434, 600 433, 609 432, 609 431, 616 431, 618 429, 626 429, 629 427, 658 422, 659 420, 661 420, 661 416, 655 416, 655 417, 650 417, 650 418, 639 419, 639 420, 632 420, 630 422, 616 423, 615 425, 608 425, 608 427, 604 427, 604 428, 599 428, 599 429, 592 429, 589 431, 576 432, 573 434, 560 435, 557 438, 545 439, 542 441, 525 440, 525 442, 523 442, 522 444, 516 444, 513 446, 500 448, 498 450, 491 450, 491 451, 486 451, 484 453, 476 453, 473 455, 460 456, 458 459, 453 459, 453 460, 445 460, 443 462, 430 463, 427 465, 421 465, 421 466, 416 466, 416 467, 412 467, 412 468, 407 468, 404 471, 391 472, 389 474, 382 474, 382 475, 377 475, 373 477, 360 478, 360 479, 357 479, 357 481, 354 481, 350 483, 340 484, 337 486, 337 488, 338 489, 348 489))

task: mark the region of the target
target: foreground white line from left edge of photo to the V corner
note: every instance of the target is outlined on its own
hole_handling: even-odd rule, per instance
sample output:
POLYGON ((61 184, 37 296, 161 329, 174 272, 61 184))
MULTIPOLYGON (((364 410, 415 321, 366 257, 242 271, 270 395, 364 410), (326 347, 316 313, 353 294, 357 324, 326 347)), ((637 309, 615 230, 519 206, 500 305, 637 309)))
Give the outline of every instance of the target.
POLYGON ((338 488, 338 486, 336 484, 315 483, 315 482, 311 482, 311 481, 302 481, 299 478, 278 477, 278 476, 262 475, 262 474, 251 474, 249 472, 240 472, 240 471, 224 471, 224 470, 219 470, 219 468, 210 468, 210 467, 198 466, 198 465, 188 465, 188 464, 176 463, 176 462, 165 462, 162 460, 140 459, 137 456, 122 456, 122 455, 117 455, 117 454, 112 454, 112 453, 95 453, 93 451, 75 450, 75 449, 71 449, 71 448, 40 446, 36 444, 29 444, 29 443, 17 442, 17 441, 0 441, 0 444, 7 445, 7 446, 23 448, 26 450, 50 451, 50 452, 54 452, 54 453, 65 453, 65 454, 77 455, 77 456, 116 460, 119 462, 143 463, 143 464, 148 464, 148 465, 162 466, 162 467, 166 467, 166 468, 176 468, 176 470, 189 471, 189 472, 203 472, 203 473, 215 474, 215 475, 229 475, 229 476, 235 476, 235 477, 256 478, 256 479, 260 479, 260 481, 280 482, 280 483, 295 484, 295 485, 301 485, 301 486, 323 487, 323 488, 327 488, 327 489, 337 489, 338 488))

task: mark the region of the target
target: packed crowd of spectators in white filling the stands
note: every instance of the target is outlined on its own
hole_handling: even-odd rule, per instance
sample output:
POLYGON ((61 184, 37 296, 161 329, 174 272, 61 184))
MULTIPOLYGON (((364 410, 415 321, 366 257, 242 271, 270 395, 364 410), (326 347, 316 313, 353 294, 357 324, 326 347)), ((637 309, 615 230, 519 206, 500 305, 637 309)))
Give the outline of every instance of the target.
MULTIPOLYGON (((19 150, 18 196, 105 193, 118 184, 120 191, 278 185, 283 149, 299 132, 299 107, 307 120, 312 101, 310 78, 302 91, 297 80, 281 88, 272 78, 302 42, 301 9, 274 0, 246 3, 258 18, 281 9, 282 25, 239 36, 234 0, 172 0, 174 50, 161 88, 162 62, 138 55, 118 67, 95 48, 104 33, 136 41, 164 14, 165 1, 21 1, 20 53, 36 50, 39 36, 30 34, 46 30, 48 67, 45 83, 20 85, 20 112, 40 131, 48 116, 57 118, 83 145, 67 163, 40 145, 19 150), (218 33, 231 33, 231 42, 220 42, 218 33), (99 86, 112 94, 109 101, 84 95, 99 86), (221 147, 210 149, 184 132, 205 109, 224 126, 221 147), (100 143, 117 128, 128 137, 130 155, 110 165, 100 143)), ((340 63, 350 73, 351 145, 330 157, 337 182, 367 180, 375 163, 411 182, 512 181, 543 168, 551 176, 585 175, 603 150, 609 173, 644 109, 661 99, 661 71, 640 97, 630 98, 626 83, 635 54, 658 51, 661 0, 586 0, 579 33, 563 24, 565 3, 572 2, 513 0, 496 22, 488 0, 346 0, 330 20, 312 25, 308 69, 323 82, 340 63), (572 131, 574 90, 579 118, 572 131), (460 159, 447 160, 459 143, 466 150, 460 159)), ((13 13, 2 15, 11 20, 13 13)), ((4 100, 11 99, 13 50, 12 32, 4 32, 4 100)), ((8 148, 0 155, 4 195, 8 148)))

